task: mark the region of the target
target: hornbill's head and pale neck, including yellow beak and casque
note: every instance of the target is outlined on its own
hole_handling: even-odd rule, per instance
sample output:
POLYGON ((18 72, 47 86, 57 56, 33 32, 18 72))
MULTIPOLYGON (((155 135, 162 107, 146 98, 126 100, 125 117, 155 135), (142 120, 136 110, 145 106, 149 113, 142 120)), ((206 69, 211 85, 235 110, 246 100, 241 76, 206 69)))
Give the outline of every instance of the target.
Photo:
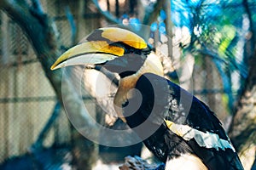
POLYGON ((163 76, 160 59, 142 37, 125 29, 108 27, 93 31, 84 42, 68 49, 57 59, 51 70, 68 65, 102 65, 121 77, 113 99, 117 115, 125 122, 122 105, 129 99, 143 73, 163 76))

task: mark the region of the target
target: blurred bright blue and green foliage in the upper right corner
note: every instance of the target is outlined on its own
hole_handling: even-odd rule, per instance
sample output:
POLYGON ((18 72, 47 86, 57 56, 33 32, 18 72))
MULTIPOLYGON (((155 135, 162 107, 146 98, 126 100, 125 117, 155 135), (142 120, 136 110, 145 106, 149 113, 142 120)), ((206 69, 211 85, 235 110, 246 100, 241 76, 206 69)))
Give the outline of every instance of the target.
POLYGON ((233 79, 242 85, 247 77, 245 43, 250 26, 256 26, 255 10, 253 1, 172 0, 174 26, 189 28, 191 41, 183 50, 195 56, 196 65, 205 56, 212 58, 229 93, 223 99, 230 108, 240 90, 232 87, 233 79))

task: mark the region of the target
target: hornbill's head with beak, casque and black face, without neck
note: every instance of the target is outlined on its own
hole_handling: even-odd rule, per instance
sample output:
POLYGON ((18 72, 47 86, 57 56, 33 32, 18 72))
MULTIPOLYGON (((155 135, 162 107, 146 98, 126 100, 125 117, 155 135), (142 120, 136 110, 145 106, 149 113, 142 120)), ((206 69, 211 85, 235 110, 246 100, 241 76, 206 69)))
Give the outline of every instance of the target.
MULTIPOLYGON (((128 77, 141 69, 150 53, 151 48, 137 34, 117 27, 100 28, 62 54, 51 70, 68 65, 102 65, 121 78, 128 77)), ((152 64, 151 68, 156 68, 154 61, 152 64)))

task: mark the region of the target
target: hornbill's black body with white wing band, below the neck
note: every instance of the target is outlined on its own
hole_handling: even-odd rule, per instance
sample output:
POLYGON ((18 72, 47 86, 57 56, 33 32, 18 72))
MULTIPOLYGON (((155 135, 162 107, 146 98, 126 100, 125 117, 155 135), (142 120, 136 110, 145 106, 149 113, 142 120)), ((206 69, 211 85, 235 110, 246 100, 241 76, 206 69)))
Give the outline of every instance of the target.
MULTIPOLYGON (((146 126, 157 130, 143 142, 160 161, 187 157, 196 161, 200 169, 242 169, 230 139, 207 105, 183 88, 151 73, 143 74, 135 88, 143 95, 143 101, 140 108, 125 119, 132 128, 149 119, 146 126), (184 100, 191 102, 189 108, 180 102, 184 100)), ((140 102, 137 99, 140 97, 135 94, 129 102, 140 102)), ((136 132, 144 138, 145 131, 150 133, 150 130, 137 128, 136 132)))

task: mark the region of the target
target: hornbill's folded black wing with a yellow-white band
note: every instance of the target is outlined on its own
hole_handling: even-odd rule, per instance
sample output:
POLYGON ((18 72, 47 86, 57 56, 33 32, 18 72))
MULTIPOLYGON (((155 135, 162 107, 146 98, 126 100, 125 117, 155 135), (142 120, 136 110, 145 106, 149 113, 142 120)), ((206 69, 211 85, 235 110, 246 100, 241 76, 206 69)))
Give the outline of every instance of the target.
POLYGON ((133 119, 131 126, 136 127, 146 120, 158 126, 166 124, 210 169, 242 169, 229 137, 207 105, 177 84, 151 73, 140 77, 136 88, 140 92, 137 95, 142 96, 137 111, 141 117, 133 119))

